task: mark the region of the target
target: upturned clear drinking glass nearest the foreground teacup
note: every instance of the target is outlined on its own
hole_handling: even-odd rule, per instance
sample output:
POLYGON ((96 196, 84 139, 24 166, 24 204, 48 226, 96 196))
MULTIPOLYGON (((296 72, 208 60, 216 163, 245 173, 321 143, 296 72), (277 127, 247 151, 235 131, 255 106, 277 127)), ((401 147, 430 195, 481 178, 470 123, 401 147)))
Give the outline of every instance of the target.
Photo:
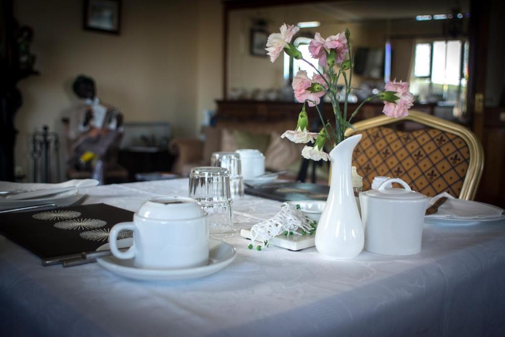
POLYGON ((189 197, 209 214, 211 233, 233 229, 233 201, 230 198, 230 174, 223 167, 194 167, 189 174, 189 197))

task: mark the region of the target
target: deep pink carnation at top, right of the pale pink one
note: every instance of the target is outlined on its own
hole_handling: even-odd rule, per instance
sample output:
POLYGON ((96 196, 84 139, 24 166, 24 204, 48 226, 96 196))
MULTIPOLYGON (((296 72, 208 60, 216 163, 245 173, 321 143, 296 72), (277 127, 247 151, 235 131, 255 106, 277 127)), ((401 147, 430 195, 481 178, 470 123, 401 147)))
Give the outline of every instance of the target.
POLYGON ((349 52, 344 32, 328 36, 326 39, 322 38, 321 34, 316 33, 314 39, 309 43, 309 52, 313 58, 319 60, 319 65, 323 67, 327 63, 326 53, 329 53, 331 49, 335 49, 337 53, 335 62, 342 63, 345 59, 345 54, 349 52))

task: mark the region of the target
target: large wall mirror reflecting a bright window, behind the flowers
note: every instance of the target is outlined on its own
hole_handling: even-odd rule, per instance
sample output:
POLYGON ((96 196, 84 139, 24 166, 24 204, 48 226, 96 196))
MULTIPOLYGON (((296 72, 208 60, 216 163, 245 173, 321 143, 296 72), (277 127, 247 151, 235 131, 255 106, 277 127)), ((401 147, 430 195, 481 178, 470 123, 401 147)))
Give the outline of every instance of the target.
POLYGON ((292 77, 298 70, 311 71, 310 66, 286 54, 271 63, 264 51, 268 35, 283 23, 297 24, 293 43, 317 65, 305 43, 316 32, 327 37, 348 28, 355 53, 352 86, 357 88, 351 100, 360 102, 396 78, 411 83, 416 103, 436 105, 435 114, 441 117, 464 119, 469 16, 468 0, 315 2, 230 10, 226 98, 293 102, 292 77))

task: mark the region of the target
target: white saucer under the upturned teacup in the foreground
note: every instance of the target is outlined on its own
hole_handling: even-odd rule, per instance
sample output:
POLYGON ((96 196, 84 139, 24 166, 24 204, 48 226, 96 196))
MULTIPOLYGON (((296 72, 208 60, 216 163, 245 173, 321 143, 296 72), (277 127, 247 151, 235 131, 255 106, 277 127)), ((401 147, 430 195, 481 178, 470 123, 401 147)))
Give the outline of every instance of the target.
MULTIPOLYGON (((132 238, 118 240, 119 248, 130 247, 132 238)), ((109 244, 98 247, 97 251, 109 249, 109 244)), ((133 259, 121 260, 114 256, 96 259, 98 264, 118 275, 143 281, 169 281, 204 277, 229 265, 237 255, 233 246, 220 240, 209 240, 209 264, 207 266, 184 269, 142 269, 133 265, 133 259)))

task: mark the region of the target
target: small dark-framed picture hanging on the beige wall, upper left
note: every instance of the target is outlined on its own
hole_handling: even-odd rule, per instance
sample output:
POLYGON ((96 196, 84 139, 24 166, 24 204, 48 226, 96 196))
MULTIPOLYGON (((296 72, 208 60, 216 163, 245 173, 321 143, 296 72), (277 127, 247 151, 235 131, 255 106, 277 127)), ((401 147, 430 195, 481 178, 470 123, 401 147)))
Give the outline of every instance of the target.
POLYGON ((119 34, 121 0, 84 0, 84 29, 119 34))

